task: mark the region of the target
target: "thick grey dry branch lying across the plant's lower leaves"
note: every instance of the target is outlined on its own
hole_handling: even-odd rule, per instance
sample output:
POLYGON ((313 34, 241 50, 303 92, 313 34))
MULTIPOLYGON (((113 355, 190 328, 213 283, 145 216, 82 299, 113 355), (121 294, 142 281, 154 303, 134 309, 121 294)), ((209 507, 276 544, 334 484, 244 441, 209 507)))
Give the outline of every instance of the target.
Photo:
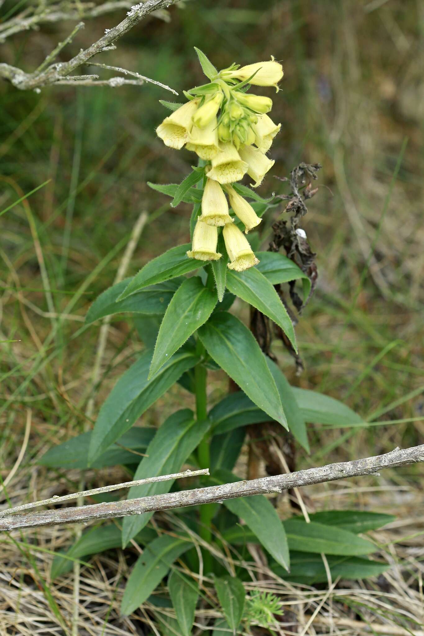
POLYGON ((147 512, 198 506, 213 502, 221 503, 225 499, 250 497, 273 492, 282 492, 288 488, 298 488, 315 483, 325 483, 348 477, 377 474, 384 468, 395 468, 424 462, 424 445, 400 450, 395 448, 385 455, 355 459, 353 462, 329 464, 318 468, 310 468, 296 473, 282 474, 250 481, 236 481, 207 488, 196 488, 182 492, 172 492, 153 497, 127 499, 125 501, 106 502, 83 506, 81 508, 64 508, 49 510, 29 515, 8 515, 0 517, 0 530, 17 530, 20 528, 37 528, 44 525, 64 523, 86 523, 101 519, 112 519, 128 515, 141 515, 147 512))

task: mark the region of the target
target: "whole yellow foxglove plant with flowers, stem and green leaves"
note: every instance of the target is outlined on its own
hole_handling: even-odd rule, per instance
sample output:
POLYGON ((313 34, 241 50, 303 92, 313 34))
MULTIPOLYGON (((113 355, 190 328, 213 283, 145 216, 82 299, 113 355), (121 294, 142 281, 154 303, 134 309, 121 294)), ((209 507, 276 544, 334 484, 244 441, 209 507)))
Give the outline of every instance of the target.
MULTIPOLYGON (((157 629, 154 627, 155 633, 192 633, 196 607, 202 612, 203 626, 209 633, 219 631, 220 625, 227 633, 227 626, 231 628, 231 633, 250 632, 252 617, 255 624, 261 624, 262 621, 272 632, 273 612, 277 614, 280 601, 266 596, 254 598, 252 590, 247 594, 242 581, 236 577, 222 577, 222 541, 217 541, 215 529, 219 528, 223 532, 218 539, 221 537, 231 543, 230 537, 237 534, 233 531, 237 525, 233 524, 244 522, 247 532, 255 535, 253 539, 248 537, 248 541, 261 543, 263 558, 268 560, 268 571, 275 571, 279 580, 290 573, 294 580, 299 577, 302 583, 304 581, 308 585, 316 581, 327 583, 328 568, 322 568, 322 578, 319 578, 316 563, 313 562, 313 581, 308 577, 305 579, 304 563, 308 563, 311 557, 304 553, 300 559, 301 571, 296 571, 296 562, 292 563, 290 570, 286 524, 281 522, 270 499, 263 495, 251 497, 249 506, 242 505, 240 499, 234 499, 233 506, 228 510, 217 503, 196 506, 195 501, 202 502, 202 499, 193 499, 191 494, 196 495, 199 491, 187 488, 214 486, 214 501, 221 500, 221 488, 224 491, 227 488, 225 482, 238 479, 230 471, 240 453, 247 424, 270 420, 275 424, 275 434, 278 434, 277 424, 280 424, 284 434, 290 431, 293 440, 309 452, 304 413, 308 413, 309 420, 313 393, 306 392, 311 397, 304 396, 305 392, 299 392, 299 389, 297 392, 292 391, 277 364, 264 354, 271 344, 268 341, 277 331, 273 329, 273 324, 278 326, 278 338, 285 343, 290 342, 291 352, 296 352, 291 318, 275 285, 280 286, 289 280, 292 292, 296 279, 306 283, 304 288, 310 281, 304 270, 287 256, 278 252, 257 251, 259 237, 254 230, 261 223, 263 213, 278 204, 273 202, 273 198, 265 200, 256 190, 238 183, 246 173, 256 185, 261 183, 273 165, 265 151, 279 130, 279 125, 273 123, 267 114, 271 100, 261 95, 249 96, 243 90, 248 83, 275 85, 282 77, 281 66, 271 60, 242 68, 234 64, 229 69, 217 71, 202 52, 198 51, 198 56, 209 83, 185 93, 188 99, 186 104, 170 105, 172 114, 157 128, 158 136, 170 148, 181 149, 185 146, 194 151, 199 157, 198 165, 180 184, 149 184, 173 197, 173 206, 181 201, 193 204, 191 244, 176 245, 147 262, 132 279, 114 285, 90 307, 86 317, 88 323, 102 320, 105 315, 135 312, 137 333, 145 347, 141 352, 137 347, 135 361, 114 385, 100 408, 93 431, 75 440, 75 445, 74 440, 71 443, 68 441, 62 452, 55 453, 55 456, 60 458, 57 459, 60 468, 63 468, 64 457, 69 465, 87 468, 109 466, 111 455, 120 458, 116 459, 117 464, 131 469, 135 462, 140 462, 133 477, 139 485, 128 492, 128 499, 137 499, 137 503, 127 502, 124 508, 121 504, 125 502, 116 502, 120 506, 116 508, 118 513, 125 515, 123 522, 119 527, 102 525, 95 535, 99 536, 99 550, 104 549, 101 546, 109 545, 110 530, 113 530, 113 543, 117 539, 117 546, 125 547, 134 539, 142 546, 142 555, 134 563, 123 593, 121 611, 125 616, 143 607, 160 584, 161 594, 169 591, 174 614, 171 618, 166 617, 171 624, 163 630, 163 612, 156 616, 154 609, 149 609, 157 626, 157 629), (247 232, 250 232, 249 240, 247 232), (229 311, 236 296, 260 312, 263 316, 261 324, 270 324, 270 329, 266 329, 267 338, 261 342, 263 349, 258 343, 259 333, 256 331, 257 340, 253 329, 250 331, 235 312, 229 311), (237 392, 224 397, 213 408, 208 408, 208 396, 216 395, 215 391, 207 391, 209 369, 221 369, 238 386, 237 392), (145 417, 147 409, 157 399, 163 400, 175 382, 193 394, 195 410, 177 410, 160 422, 158 427, 140 426, 151 420, 149 416, 145 417), (256 408, 252 408, 253 404, 256 408), (248 419, 246 410, 249 410, 248 419), (141 417, 144 422, 140 422, 141 417), (130 434, 133 425, 135 429, 130 434), (127 434, 130 434, 129 441, 127 434), (86 448, 87 443, 89 448, 86 455, 81 453, 81 448, 86 448), (182 474, 190 480, 189 487, 181 487, 173 480, 140 485, 139 480, 146 477, 176 473, 188 466, 190 469, 200 469, 202 481, 196 477, 195 471, 191 476, 189 471, 184 471, 182 474), (209 471, 212 478, 209 478, 209 471), (222 487, 217 484, 222 484, 222 487), (175 492, 167 499, 171 487, 175 492), (143 512, 142 503, 154 499, 148 495, 159 495, 160 499, 165 497, 165 500, 176 505, 179 499, 174 497, 178 495, 176 491, 179 488, 186 490, 181 495, 184 496, 183 505, 190 506, 190 532, 185 531, 188 528, 188 516, 183 512, 184 509, 168 511, 166 516, 159 513, 151 527, 146 527, 153 513, 143 512), (257 519, 263 519, 264 523, 257 523, 257 519), (202 538, 198 561, 193 559, 194 550, 191 550, 192 530, 193 534, 199 534, 202 538), (227 530, 229 534, 226 536, 227 530), (175 567, 176 560, 184 567, 175 567), (188 572, 190 567, 197 571, 188 578, 181 572, 183 569, 188 572), (202 574, 203 587, 207 589, 202 599, 198 599, 198 589, 193 583, 202 578, 200 572, 205 575, 202 574), (162 584, 162 579, 167 580, 162 584), (233 612, 232 606, 228 609, 229 604, 225 602, 229 591, 237 599, 236 612, 233 612), (184 611, 181 611, 181 598, 184 598, 184 602, 187 600, 190 606, 188 611, 185 611, 185 605, 184 611), (205 614, 208 599, 212 600, 214 612, 205 614), (225 623, 221 618, 215 621, 216 599, 222 605, 220 609, 226 618, 225 623), (248 611, 243 611, 243 604, 247 605, 248 611)), ((310 176, 313 172, 301 174, 310 176)), ((299 174, 297 188, 301 178, 299 174)), ((307 196, 310 196, 309 192, 307 196)), ((299 214, 303 214, 303 209, 299 214)), ((292 216, 291 221, 295 216, 292 216)), ((294 235, 294 245, 298 248, 301 240, 301 245, 305 247, 306 239, 301 234, 301 228, 292 232, 293 227, 289 232, 291 237, 294 235)), ((278 249, 276 242, 273 242, 273 247, 278 249)), ((292 294, 290 296, 294 298, 292 294)), ((305 296, 308 296, 308 291, 305 296)), ((259 324, 259 321, 252 321, 252 327, 254 324, 259 324)), ((261 328, 261 338, 263 334, 261 328)), ((345 412, 339 408, 334 410, 334 399, 329 410, 332 418, 334 412, 345 412)), ((161 411, 161 408, 156 408, 154 419, 160 416, 161 411)), ((318 422, 322 421, 320 415, 322 413, 318 412, 318 422)), ((48 466, 49 462, 46 464, 48 466)), ((235 490, 227 492, 231 495, 236 493, 235 490)), ((158 508, 161 506, 151 506, 151 509, 158 508)), ((366 515, 369 523, 369 513, 366 515)), ((345 516, 339 520, 340 525, 344 521, 345 516)), ((296 532, 292 534, 304 534, 302 523, 297 518, 296 532)), ((331 532, 334 535, 334 526, 326 528, 322 523, 315 523, 315 526, 314 533, 318 533, 318 539, 325 538, 331 532)), ((335 577, 343 575, 343 570, 340 570, 343 563, 340 565, 340 561, 345 562, 346 556, 350 555, 355 559, 355 572, 369 571, 370 564, 362 556, 366 551, 371 551, 373 545, 353 533, 349 536, 346 529, 340 532, 343 532, 341 549, 334 550, 334 546, 337 548, 338 545, 332 541, 332 553, 336 558, 333 561, 332 557, 327 559, 328 567, 332 569, 331 577, 335 580, 335 577), (346 546, 350 544, 355 550, 346 551, 346 546), (358 553, 361 559, 355 556, 358 553)), ((86 535, 83 534, 79 542, 84 544, 85 540, 86 535)), ((90 541, 88 538, 88 543, 90 541)), ((240 548, 236 541, 233 544, 235 550, 240 548)), ((302 550, 301 545, 295 544, 295 548, 297 553, 302 550)), ((371 563, 373 574, 379 568, 383 571, 386 567, 384 563, 371 563)), ((69 565, 69 559, 57 555, 53 561, 52 578, 60 572, 65 573, 69 565)), ((346 563, 346 568, 349 576, 352 563, 346 563)), ((237 574, 241 570, 242 566, 238 565, 237 574)), ((357 576, 362 578, 360 574, 357 576)))

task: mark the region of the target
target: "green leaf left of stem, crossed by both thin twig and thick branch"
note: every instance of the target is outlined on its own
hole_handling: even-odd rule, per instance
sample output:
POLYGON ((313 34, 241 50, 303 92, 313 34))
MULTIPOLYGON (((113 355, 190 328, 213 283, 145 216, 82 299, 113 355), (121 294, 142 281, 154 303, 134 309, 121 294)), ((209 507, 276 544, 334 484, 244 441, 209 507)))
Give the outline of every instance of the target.
MULTIPOLYGON (((140 461, 134 480, 177 473, 193 453, 209 430, 210 423, 196 422, 193 411, 184 409, 177 411, 161 425, 153 440, 147 446, 146 457, 140 461)), ((145 486, 133 486, 128 492, 128 499, 149 497, 169 492, 173 481, 159 481, 145 486)), ((123 521, 122 543, 135 537, 149 521, 153 513, 125 517, 123 521)))

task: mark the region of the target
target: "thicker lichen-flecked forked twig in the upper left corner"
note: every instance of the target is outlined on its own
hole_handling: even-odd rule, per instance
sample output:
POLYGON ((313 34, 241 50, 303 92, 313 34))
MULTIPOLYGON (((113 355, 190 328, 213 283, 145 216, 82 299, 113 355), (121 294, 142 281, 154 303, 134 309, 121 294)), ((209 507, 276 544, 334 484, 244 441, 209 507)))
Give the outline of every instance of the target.
MULTIPOLYGON (((114 41, 125 35, 128 31, 130 31, 130 29, 135 27, 135 25, 137 25, 140 20, 153 13, 153 11, 167 8, 172 4, 177 4, 179 1, 180 0, 146 0, 146 2, 144 3, 136 4, 130 11, 128 11, 127 18, 125 18, 125 20, 122 20, 122 22, 116 25, 116 27, 107 29, 102 38, 97 40, 97 42, 93 43, 88 48, 81 49, 80 52, 75 55, 75 57, 72 57, 72 59, 69 60, 69 62, 58 62, 56 64, 51 64, 44 71, 35 71, 34 73, 25 73, 24 71, 22 71, 22 69, 10 66, 10 64, 0 64, 0 78, 8 79, 13 84, 13 86, 19 88, 20 90, 39 90, 44 86, 51 86, 52 84, 63 85, 64 83, 69 84, 71 82, 79 83, 79 85, 88 85, 88 82, 90 81, 88 79, 78 79, 77 81, 72 79, 69 80, 69 76, 71 75, 72 71, 83 64, 88 64, 89 60, 97 55, 97 53, 102 53, 104 52, 104 50, 110 50, 110 47, 111 45, 113 45, 114 41), (82 82, 85 82, 85 84, 82 84, 82 82)), ((6 34, 8 34, 8 32, 6 32, 6 34)), ((4 39, 4 37, 4 32, 0 32, 0 38, 4 39)), ((72 34, 71 36, 69 36, 69 38, 71 37, 72 34)), ((55 52, 53 51, 53 53, 55 52)), ((53 53, 51 53, 51 55, 53 55, 53 53)), ((44 64, 42 66, 44 66, 44 64)), ((178 95, 178 93, 174 89, 169 88, 169 86, 160 84, 153 79, 144 78, 143 76, 137 75, 137 77, 142 77, 144 81, 150 81, 158 84, 163 88, 170 90, 175 95, 178 95)), ((123 85, 123 83, 140 85, 140 81, 141 80, 139 79, 137 83, 134 80, 125 80, 111 83, 111 80, 109 80, 106 85, 121 86, 123 85)), ((97 85, 100 85, 100 82, 98 82, 97 85)), ((102 85, 105 84, 102 83, 102 85)))

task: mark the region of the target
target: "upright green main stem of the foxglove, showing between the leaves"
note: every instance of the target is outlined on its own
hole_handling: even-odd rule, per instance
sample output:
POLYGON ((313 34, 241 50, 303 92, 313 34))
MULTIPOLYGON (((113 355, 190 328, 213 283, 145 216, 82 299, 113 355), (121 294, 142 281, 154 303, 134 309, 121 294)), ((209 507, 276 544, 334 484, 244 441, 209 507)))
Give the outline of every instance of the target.
MULTIPOLYGON (((196 352, 198 356, 202 356, 205 353, 205 349, 200 342, 197 341, 196 352)), ((196 395, 196 418, 198 422, 202 422, 207 418, 207 370, 202 363, 195 366, 195 395, 196 395)), ((207 433, 202 439, 197 450, 198 463, 201 468, 210 467, 210 452, 209 452, 209 434, 207 433)), ((212 523, 212 517, 215 513, 214 504, 204 504, 200 506, 200 530, 199 534, 203 541, 212 543, 212 530, 210 528, 212 523)), ((203 550, 203 567, 206 572, 212 570, 212 555, 209 551, 203 550)))

